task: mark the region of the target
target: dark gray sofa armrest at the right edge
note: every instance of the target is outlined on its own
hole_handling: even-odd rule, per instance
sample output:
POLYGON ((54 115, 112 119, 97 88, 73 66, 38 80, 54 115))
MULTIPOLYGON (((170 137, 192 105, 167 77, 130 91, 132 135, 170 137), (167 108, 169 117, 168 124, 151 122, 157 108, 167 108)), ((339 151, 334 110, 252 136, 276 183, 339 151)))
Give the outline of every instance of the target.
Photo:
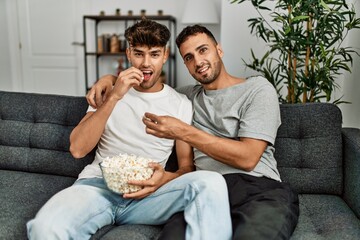
POLYGON ((360 129, 343 128, 344 200, 360 218, 360 129))

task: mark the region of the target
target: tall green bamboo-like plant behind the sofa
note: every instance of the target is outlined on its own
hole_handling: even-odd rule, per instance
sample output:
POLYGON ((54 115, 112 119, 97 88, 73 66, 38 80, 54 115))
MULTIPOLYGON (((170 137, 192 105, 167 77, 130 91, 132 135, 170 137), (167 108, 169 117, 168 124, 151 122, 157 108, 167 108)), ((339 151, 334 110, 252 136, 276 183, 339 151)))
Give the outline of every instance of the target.
POLYGON ((344 46, 348 33, 360 28, 354 7, 346 0, 248 2, 258 13, 248 19, 251 33, 265 41, 269 50, 260 58, 251 50, 252 60, 245 65, 274 85, 281 103, 332 100, 336 77, 351 72, 352 57, 357 54, 353 47, 344 46))

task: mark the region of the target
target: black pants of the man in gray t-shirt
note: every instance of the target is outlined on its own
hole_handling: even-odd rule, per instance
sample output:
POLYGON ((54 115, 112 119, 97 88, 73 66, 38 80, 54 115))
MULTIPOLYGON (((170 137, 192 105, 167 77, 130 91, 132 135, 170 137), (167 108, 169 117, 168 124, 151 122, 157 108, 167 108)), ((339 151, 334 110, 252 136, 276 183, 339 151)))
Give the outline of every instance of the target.
MULTIPOLYGON (((299 216, 298 196, 288 184, 265 177, 226 174, 233 239, 289 239, 299 216)), ((221 221, 219 219, 219 221, 221 221)), ((160 240, 185 239, 183 213, 165 224, 160 240)))

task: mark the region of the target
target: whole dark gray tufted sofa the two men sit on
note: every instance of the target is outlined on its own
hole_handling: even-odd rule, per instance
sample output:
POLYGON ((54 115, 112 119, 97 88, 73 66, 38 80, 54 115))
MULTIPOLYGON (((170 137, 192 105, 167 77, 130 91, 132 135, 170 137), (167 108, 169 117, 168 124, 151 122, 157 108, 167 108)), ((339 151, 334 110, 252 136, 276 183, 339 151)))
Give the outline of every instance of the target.
MULTIPOLYGON (((84 97, 0 91, 0 239, 26 239, 25 223, 70 186, 94 153, 75 160, 69 134, 84 97)), ((276 158, 299 193, 292 239, 360 239, 360 130, 332 104, 281 105, 276 158)), ((171 170, 175 167, 172 155, 171 170)), ((276 219, 274 219, 276 221, 276 219)), ((107 226, 92 239, 156 239, 161 226, 107 226)))

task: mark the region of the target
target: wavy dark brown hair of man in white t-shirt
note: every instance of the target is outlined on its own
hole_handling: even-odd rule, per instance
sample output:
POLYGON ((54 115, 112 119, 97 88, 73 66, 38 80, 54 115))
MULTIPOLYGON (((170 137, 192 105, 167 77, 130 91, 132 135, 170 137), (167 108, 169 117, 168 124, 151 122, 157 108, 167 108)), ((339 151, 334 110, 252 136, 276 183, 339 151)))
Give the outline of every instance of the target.
POLYGON ((165 25, 146 18, 125 30, 125 38, 130 46, 165 47, 170 35, 165 25))

